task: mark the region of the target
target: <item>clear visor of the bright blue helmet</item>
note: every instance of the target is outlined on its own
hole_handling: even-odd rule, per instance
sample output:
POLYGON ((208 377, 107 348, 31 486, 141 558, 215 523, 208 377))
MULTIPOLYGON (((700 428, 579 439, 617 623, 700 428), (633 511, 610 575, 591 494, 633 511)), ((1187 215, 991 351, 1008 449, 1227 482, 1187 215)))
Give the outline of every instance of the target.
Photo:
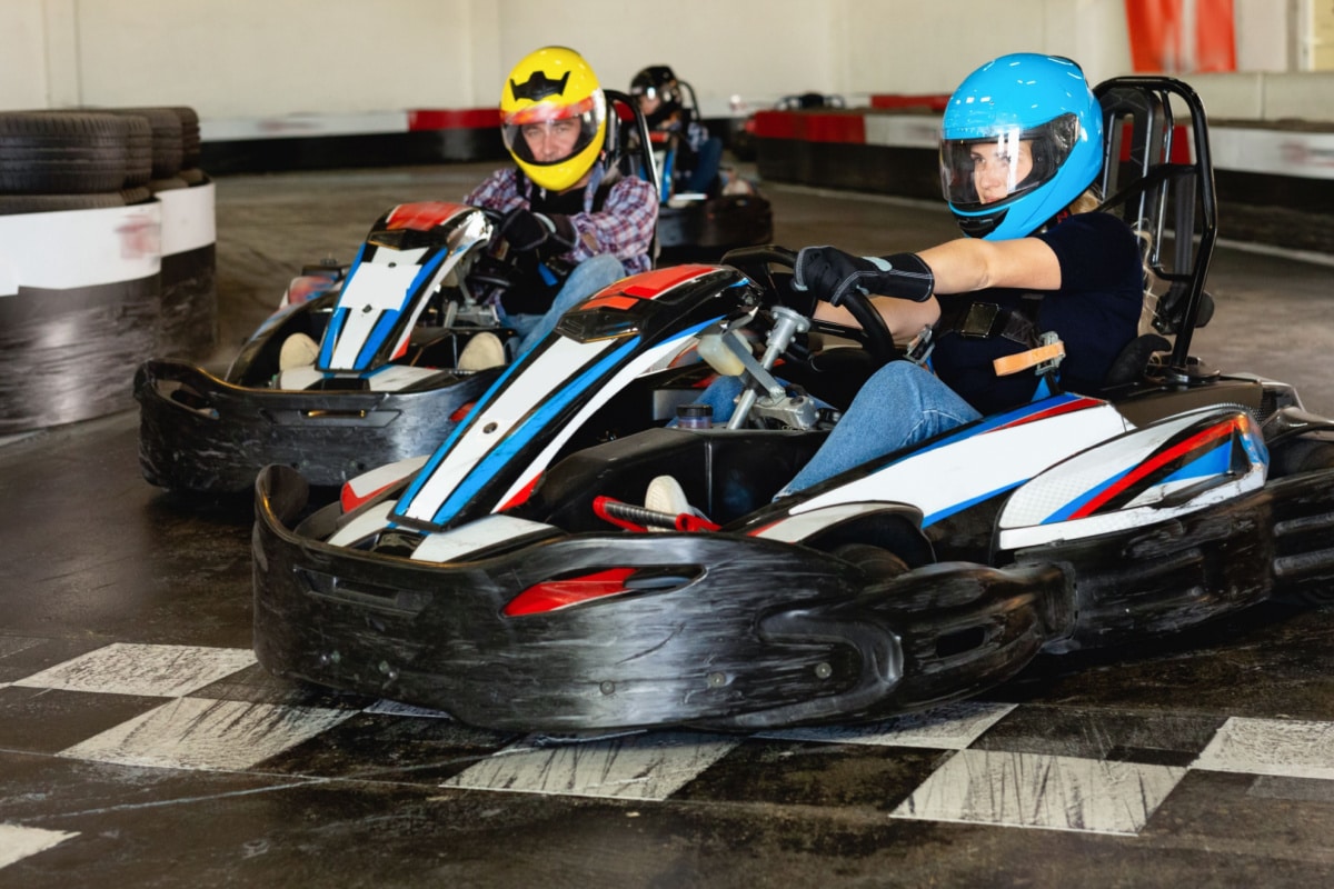
POLYGON ((1062 115, 1031 127, 999 127, 980 139, 940 141, 940 188, 959 211, 1011 201, 1055 177, 1079 137, 1079 119, 1062 115))

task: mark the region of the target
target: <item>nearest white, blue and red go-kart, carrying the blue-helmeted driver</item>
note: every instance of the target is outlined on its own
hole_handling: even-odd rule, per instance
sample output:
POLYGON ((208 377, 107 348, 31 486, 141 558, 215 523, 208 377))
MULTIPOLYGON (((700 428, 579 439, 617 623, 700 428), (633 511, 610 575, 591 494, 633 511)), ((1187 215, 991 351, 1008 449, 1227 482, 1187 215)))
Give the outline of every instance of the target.
MULTIPOLYGON (((627 279, 424 464, 317 509, 297 472, 260 473, 260 662, 496 729, 755 730, 882 718, 1039 652, 1329 597, 1334 421, 1189 352, 1217 229, 1203 109, 1170 79, 1098 93, 1109 212, 1135 220, 1165 289, 1158 331, 1097 396, 1058 392, 772 500, 827 435, 790 383, 828 357, 799 348, 791 253, 627 279), (738 336, 756 327, 759 355, 738 336), (726 427, 571 446, 687 344, 746 383, 726 427), (659 474, 708 520, 638 505, 659 474)), ((896 360, 868 300, 847 305, 867 332, 854 351, 896 360)))

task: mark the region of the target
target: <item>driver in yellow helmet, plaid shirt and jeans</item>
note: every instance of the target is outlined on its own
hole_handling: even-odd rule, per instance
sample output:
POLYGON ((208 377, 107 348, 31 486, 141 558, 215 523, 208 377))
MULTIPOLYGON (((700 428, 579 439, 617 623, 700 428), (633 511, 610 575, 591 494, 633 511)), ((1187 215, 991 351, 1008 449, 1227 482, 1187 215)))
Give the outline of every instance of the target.
MULTIPOLYGON (((572 49, 544 47, 515 65, 500 93, 500 132, 516 165, 463 200, 503 213, 498 236, 520 255, 499 295, 502 320, 519 333, 518 357, 566 311, 652 267, 658 196, 612 163, 615 121, 596 75, 572 49)), ((504 357, 499 337, 479 333, 459 367, 504 357)))

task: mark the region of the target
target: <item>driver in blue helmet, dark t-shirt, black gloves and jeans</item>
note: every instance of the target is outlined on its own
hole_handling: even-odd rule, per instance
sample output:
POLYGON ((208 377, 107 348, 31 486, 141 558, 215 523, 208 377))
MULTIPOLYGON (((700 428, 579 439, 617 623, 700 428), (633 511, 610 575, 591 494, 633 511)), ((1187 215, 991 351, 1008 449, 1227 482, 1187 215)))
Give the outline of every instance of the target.
MULTIPOLYGON (((1090 212, 1101 204, 1102 152, 1101 107, 1079 65, 1002 56, 968 75, 942 121, 940 181, 966 237, 884 257, 800 251, 792 283, 806 301, 794 308, 855 325, 842 301, 859 291, 872 295, 896 340, 930 328, 934 348, 928 365, 891 361, 876 371, 779 496, 1041 397, 1043 377, 1033 369, 998 376, 992 361, 1027 352, 1042 332, 1065 344, 1061 388, 1099 392, 1139 332, 1145 288, 1134 232, 1090 212)), ((711 389, 715 420, 726 420, 736 384, 711 389)), ((684 497, 666 476, 650 485, 648 500, 663 512, 687 510, 676 509, 684 497)))

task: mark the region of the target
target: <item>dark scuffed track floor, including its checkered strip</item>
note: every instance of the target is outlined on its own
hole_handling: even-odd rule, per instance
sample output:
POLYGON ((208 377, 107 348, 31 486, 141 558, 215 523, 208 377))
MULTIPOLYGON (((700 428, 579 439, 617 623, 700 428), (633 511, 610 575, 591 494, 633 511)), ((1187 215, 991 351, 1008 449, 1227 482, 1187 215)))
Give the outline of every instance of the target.
MULTIPOLYGON (((382 211, 483 171, 219 181, 208 363, 300 264, 351 259, 382 211)), ((954 232, 939 207, 768 193, 791 247, 954 232)), ((1334 268, 1225 247, 1211 289, 1195 352, 1334 412, 1334 268)), ((136 423, 0 446, 0 886, 1334 880, 1334 609, 1045 657, 982 701, 855 730, 499 736, 268 677, 249 502, 151 488, 136 423)))

